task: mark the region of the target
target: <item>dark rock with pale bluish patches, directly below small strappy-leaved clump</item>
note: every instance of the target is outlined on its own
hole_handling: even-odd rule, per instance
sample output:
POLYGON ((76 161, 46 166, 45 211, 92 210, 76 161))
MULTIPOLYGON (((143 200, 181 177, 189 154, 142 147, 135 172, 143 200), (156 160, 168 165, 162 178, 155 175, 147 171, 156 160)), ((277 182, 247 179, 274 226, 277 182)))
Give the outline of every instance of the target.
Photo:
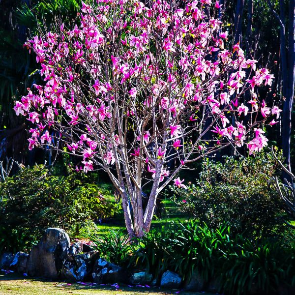
POLYGON ((98 284, 114 284, 118 282, 123 282, 125 278, 123 278, 121 270, 122 268, 120 266, 109 263, 104 258, 99 258, 96 260, 93 267, 93 282, 98 284))

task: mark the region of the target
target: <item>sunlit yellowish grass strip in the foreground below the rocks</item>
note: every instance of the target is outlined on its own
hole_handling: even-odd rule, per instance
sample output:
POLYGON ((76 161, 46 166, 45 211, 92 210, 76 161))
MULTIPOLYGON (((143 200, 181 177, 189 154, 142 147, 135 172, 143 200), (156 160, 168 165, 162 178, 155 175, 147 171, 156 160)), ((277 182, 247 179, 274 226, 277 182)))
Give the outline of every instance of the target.
MULTIPOLYGON (((76 295, 201 295, 202 293, 182 292, 177 290, 165 291, 159 288, 130 288, 119 287, 117 290, 111 286, 82 286, 79 284, 71 284, 67 286, 63 282, 39 281, 34 278, 23 277, 16 274, 0 275, 0 295, 60 295, 60 294, 76 294, 76 295)), ((203 293, 204 294, 204 293, 203 293)), ((207 295, 212 295, 206 293, 207 295)))

